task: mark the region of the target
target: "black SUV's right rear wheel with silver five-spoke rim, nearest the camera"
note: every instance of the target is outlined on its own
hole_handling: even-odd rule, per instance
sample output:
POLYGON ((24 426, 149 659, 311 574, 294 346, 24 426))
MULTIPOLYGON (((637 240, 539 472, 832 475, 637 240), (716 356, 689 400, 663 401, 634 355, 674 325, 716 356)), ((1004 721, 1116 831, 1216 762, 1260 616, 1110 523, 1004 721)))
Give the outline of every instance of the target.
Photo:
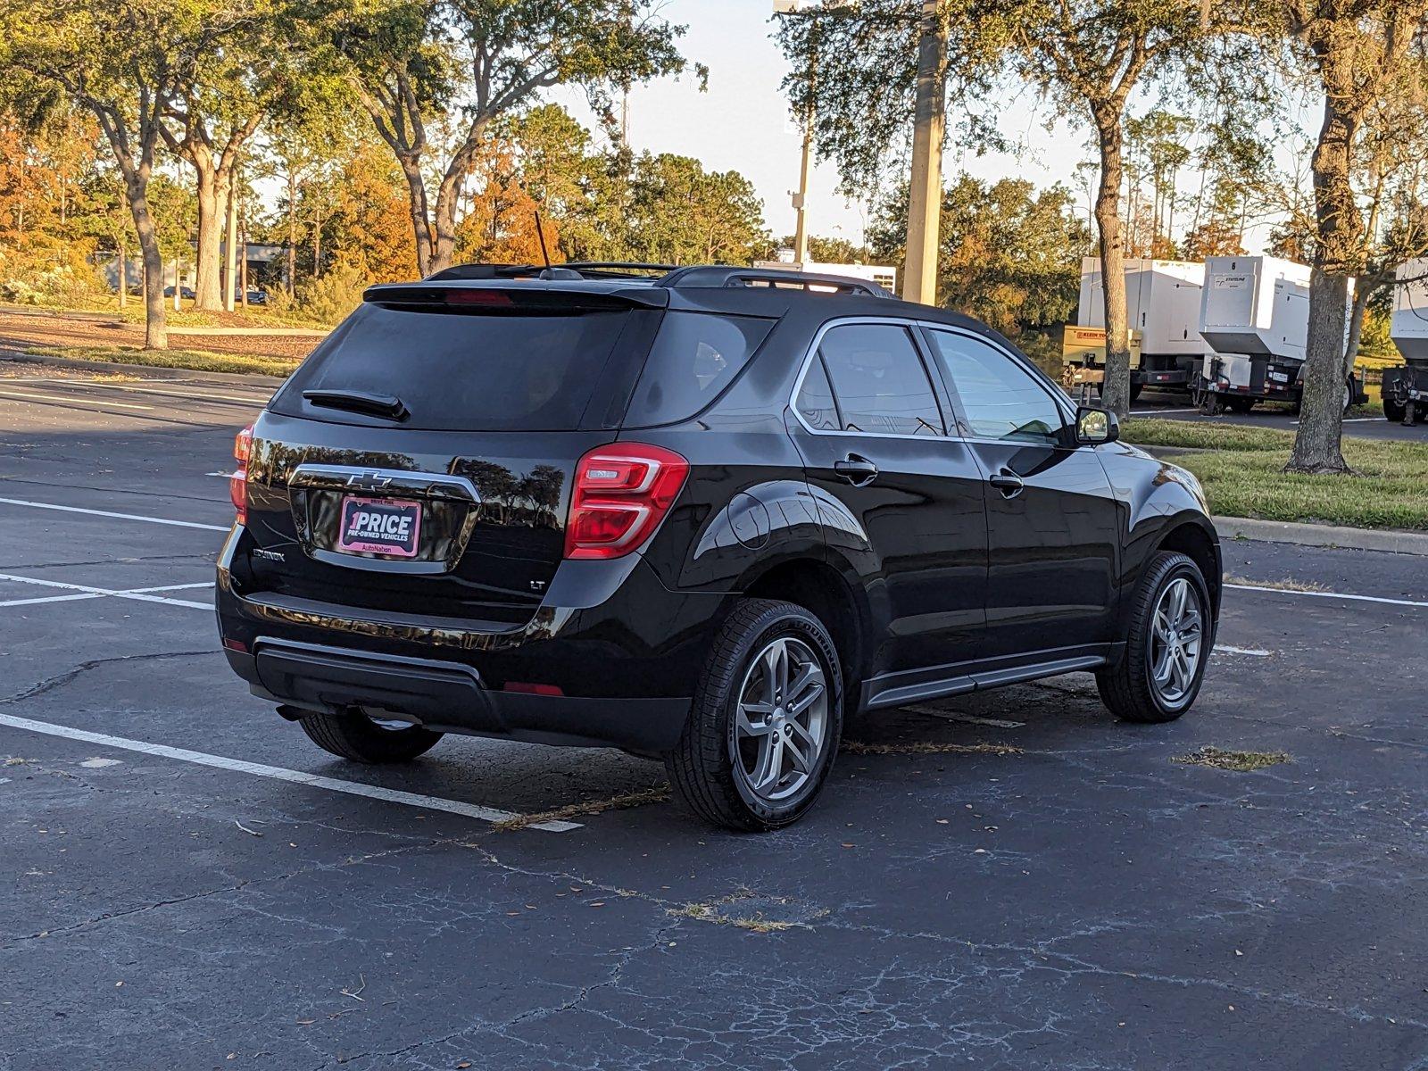
POLYGON ((778 830, 818 798, 841 734, 843 673, 823 621, 793 603, 747 598, 714 637, 665 768, 698 818, 778 830))

